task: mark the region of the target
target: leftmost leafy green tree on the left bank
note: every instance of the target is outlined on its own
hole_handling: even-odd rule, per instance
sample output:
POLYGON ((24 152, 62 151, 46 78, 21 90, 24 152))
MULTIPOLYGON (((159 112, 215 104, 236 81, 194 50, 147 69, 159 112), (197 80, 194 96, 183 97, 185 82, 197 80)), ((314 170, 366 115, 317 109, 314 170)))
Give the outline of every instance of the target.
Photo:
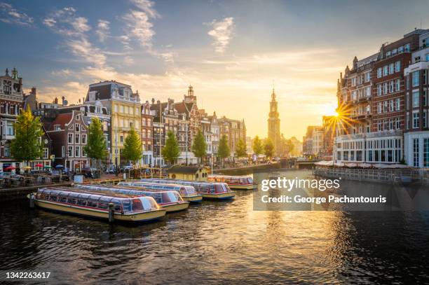
POLYGON ((11 155, 16 160, 25 161, 41 158, 43 155, 42 124, 39 117, 34 117, 27 108, 15 122, 15 139, 11 141, 11 155))

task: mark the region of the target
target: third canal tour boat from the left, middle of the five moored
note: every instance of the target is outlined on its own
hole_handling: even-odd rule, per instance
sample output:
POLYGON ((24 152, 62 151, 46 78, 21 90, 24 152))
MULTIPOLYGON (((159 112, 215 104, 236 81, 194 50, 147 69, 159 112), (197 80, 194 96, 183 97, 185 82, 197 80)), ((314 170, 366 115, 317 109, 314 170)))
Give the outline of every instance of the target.
POLYGON ((174 190, 180 193, 180 196, 182 196, 183 200, 191 202, 191 203, 199 203, 203 200, 203 195, 200 195, 196 193, 195 188, 192 186, 184 186, 184 185, 177 185, 173 184, 169 187, 159 187, 158 185, 154 183, 146 183, 141 181, 121 181, 118 183, 118 185, 122 186, 134 186, 139 188, 144 188, 145 190, 149 191, 162 191, 162 190, 174 190), (152 187, 154 186, 154 187, 152 187))

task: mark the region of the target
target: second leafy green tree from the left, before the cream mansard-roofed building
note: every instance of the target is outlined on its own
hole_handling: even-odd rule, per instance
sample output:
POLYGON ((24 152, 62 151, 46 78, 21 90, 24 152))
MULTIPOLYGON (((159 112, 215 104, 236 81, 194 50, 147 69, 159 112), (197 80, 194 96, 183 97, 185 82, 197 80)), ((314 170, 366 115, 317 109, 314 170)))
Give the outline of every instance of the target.
POLYGON ((100 161, 107 157, 107 142, 98 118, 91 120, 88 127, 88 141, 84 149, 88 158, 99 161, 99 167, 100 161))

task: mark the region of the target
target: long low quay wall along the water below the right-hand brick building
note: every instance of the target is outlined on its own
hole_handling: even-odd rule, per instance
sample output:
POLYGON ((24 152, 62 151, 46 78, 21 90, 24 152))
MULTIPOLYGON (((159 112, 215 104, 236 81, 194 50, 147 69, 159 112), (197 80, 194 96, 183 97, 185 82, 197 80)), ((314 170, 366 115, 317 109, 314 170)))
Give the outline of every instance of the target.
POLYGON ((316 167, 315 176, 369 181, 377 183, 399 184, 404 179, 429 186, 428 169, 349 169, 343 167, 316 167))

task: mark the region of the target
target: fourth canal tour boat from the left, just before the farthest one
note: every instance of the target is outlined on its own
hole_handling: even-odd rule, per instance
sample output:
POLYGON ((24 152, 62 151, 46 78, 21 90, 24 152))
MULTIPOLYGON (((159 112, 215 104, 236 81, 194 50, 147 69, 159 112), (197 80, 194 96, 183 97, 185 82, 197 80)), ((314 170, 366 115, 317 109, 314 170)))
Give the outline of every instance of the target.
POLYGON ((170 183, 179 184, 182 186, 192 186, 195 188, 197 193, 203 195, 205 199, 217 199, 226 200, 236 196, 236 193, 231 191, 226 183, 220 182, 205 182, 205 181, 189 181, 182 179, 140 179, 144 183, 155 183, 162 184, 164 187, 170 185, 170 183))

